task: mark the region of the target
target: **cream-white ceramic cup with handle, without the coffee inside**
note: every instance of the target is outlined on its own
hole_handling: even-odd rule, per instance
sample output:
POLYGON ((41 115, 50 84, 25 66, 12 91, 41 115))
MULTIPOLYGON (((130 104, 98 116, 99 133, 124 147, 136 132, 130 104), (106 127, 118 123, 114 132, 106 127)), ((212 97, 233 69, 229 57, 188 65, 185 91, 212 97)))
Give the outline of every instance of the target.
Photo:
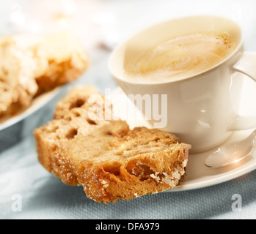
MULTIPOLYGON (((244 52, 241 29, 232 20, 216 16, 192 16, 158 23, 122 42, 111 54, 109 70, 126 95, 167 94, 167 124, 161 130, 172 132, 193 152, 219 146, 233 131, 256 127, 256 116, 238 116, 233 110, 230 86, 235 72, 242 72, 256 80, 256 53, 244 52), (238 46, 216 66, 189 78, 167 82, 136 82, 123 78, 125 64, 138 53, 153 48, 169 38, 198 31, 228 29, 238 40, 238 46)), ((241 93, 236 85, 235 93, 241 93)), ((234 90, 233 90, 234 91, 234 90)), ((160 99, 159 99, 160 100, 160 99)), ((155 102, 153 105, 159 105, 155 102)), ((158 107, 157 107, 158 109, 158 107)), ((152 110, 156 110, 154 106, 152 110)), ((158 120, 142 110, 150 126, 158 120)))

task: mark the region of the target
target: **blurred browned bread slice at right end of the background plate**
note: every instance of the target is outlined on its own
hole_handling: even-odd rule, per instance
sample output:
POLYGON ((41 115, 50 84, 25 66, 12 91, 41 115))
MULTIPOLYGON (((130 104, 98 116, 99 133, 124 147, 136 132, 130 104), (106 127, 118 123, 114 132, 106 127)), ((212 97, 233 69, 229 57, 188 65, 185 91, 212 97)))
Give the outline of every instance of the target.
POLYGON ((89 67, 84 47, 72 34, 45 37, 38 43, 37 50, 47 61, 45 70, 36 77, 37 95, 76 80, 89 67))

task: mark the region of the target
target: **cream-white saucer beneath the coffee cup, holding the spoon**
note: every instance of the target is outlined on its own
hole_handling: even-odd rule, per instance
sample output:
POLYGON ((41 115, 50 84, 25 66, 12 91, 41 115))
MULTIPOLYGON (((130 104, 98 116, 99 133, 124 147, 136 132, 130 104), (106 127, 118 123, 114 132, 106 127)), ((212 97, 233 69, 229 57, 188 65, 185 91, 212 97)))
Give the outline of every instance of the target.
MULTIPOLYGON (((131 120, 127 118, 131 105, 133 105, 129 99, 122 92, 121 88, 117 88, 111 93, 111 102, 114 106, 114 113, 117 117, 128 122, 129 126, 134 127, 149 127, 143 120, 142 116, 139 121, 131 120)), ((138 117, 140 113, 136 113, 138 117)), ((242 140, 247 137, 254 129, 246 131, 234 132, 233 135, 225 143, 242 140)), ((216 149, 213 149, 214 151, 216 149)), ((256 169, 256 150, 252 152, 251 156, 247 156, 246 159, 238 162, 234 165, 221 168, 206 167, 204 162, 205 158, 212 151, 205 151, 201 154, 189 154, 189 162, 186 167, 186 175, 180 184, 175 189, 167 190, 167 192, 184 191, 189 189, 200 189, 205 186, 212 186, 220 184, 225 181, 230 181, 233 178, 243 176, 246 173, 256 169)))

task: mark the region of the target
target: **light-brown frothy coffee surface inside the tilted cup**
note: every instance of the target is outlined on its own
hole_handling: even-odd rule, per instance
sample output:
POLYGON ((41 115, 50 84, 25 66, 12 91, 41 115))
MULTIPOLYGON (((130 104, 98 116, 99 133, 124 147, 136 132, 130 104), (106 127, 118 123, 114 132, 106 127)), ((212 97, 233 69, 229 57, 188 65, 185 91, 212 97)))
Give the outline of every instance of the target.
POLYGON ((159 82, 188 78, 222 62, 237 44, 227 31, 205 31, 171 38, 125 64, 123 78, 159 82))

